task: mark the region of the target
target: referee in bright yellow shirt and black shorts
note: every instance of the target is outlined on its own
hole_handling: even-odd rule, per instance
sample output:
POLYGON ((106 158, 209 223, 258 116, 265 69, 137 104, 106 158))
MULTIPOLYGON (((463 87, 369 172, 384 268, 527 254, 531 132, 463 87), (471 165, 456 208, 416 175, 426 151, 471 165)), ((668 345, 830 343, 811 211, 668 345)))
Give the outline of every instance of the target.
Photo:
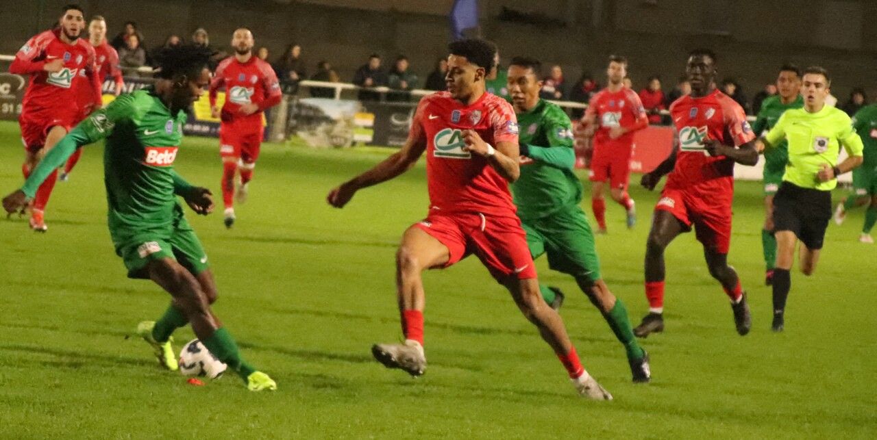
POLYGON ((825 104, 830 93, 828 71, 823 67, 804 70, 804 108, 786 110, 757 144, 759 150, 764 150, 784 138, 788 140, 786 173, 774 196, 774 231, 779 247, 774 268, 774 331, 783 330, 795 245, 798 240, 803 244, 798 252, 801 272, 812 274, 831 220, 831 190, 838 186, 839 174, 862 163, 862 139, 852 129, 846 113, 825 104), (840 145, 850 157, 838 164, 840 145))

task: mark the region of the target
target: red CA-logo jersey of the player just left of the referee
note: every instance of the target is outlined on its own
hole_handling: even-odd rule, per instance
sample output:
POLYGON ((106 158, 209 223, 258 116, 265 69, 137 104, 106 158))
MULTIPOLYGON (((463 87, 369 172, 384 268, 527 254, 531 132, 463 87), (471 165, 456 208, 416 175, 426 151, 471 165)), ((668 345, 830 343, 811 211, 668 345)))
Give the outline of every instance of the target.
POLYGON ((667 188, 705 191, 717 194, 724 189, 728 197, 734 188, 734 161, 712 157, 703 148, 704 139, 739 146, 752 141, 755 134, 746 122, 745 111, 731 97, 714 90, 707 96, 682 96, 670 104, 670 116, 679 136, 674 170, 667 177, 667 188))

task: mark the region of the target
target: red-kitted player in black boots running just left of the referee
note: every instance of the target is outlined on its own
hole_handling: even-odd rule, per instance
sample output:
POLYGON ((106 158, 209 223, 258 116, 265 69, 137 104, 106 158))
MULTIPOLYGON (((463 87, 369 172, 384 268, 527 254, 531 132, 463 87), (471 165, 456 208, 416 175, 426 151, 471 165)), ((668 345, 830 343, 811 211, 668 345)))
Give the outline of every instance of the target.
POLYGON ((755 165, 759 153, 743 109, 729 96, 711 89, 716 78, 716 55, 706 49, 688 54, 686 74, 691 95, 670 104, 676 131, 670 157, 651 173, 643 174, 643 187, 652 190, 667 173, 652 218, 652 231, 645 246, 645 296, 649 314, 633 330, 638 337, 664 330, 664 249, 692 225, 709 274, 731 298, 734 323, 742 336, 752 319, 746 294, 737 273, 728 266, 731 247, 731 202, 734 197, 734 162, 755 165), (735 147, 736 145, 736 147, 735 147))

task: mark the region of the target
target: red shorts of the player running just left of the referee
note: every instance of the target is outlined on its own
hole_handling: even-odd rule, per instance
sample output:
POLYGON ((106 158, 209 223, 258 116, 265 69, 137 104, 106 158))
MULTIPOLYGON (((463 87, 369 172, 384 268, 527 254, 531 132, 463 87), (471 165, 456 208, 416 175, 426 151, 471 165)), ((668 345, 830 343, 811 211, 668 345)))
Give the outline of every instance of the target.
POLYGON ((731 249, 731 200, 717 202, 715 195, 695 194, 681 189, 664 188, 655 209, 665 210, 678 218, 703 247, 718 253, 731 249))

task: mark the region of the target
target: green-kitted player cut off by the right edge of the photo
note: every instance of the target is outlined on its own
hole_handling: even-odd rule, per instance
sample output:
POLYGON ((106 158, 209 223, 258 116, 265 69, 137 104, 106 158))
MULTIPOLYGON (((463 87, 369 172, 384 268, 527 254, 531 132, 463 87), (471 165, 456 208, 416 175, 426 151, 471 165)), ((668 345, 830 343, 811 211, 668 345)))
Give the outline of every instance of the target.
POLYGON ((861 243, 873 244, 871 229, 877 223, 877 104, 866 105, 852 117, 852 128, 859 133, 865 146, 865 160, 862 166, 852 170, 851 197, 838 204, 834 212, 834 221, 844 223, 847 209, 867 205, 865 225, 862 227, 861 243))

